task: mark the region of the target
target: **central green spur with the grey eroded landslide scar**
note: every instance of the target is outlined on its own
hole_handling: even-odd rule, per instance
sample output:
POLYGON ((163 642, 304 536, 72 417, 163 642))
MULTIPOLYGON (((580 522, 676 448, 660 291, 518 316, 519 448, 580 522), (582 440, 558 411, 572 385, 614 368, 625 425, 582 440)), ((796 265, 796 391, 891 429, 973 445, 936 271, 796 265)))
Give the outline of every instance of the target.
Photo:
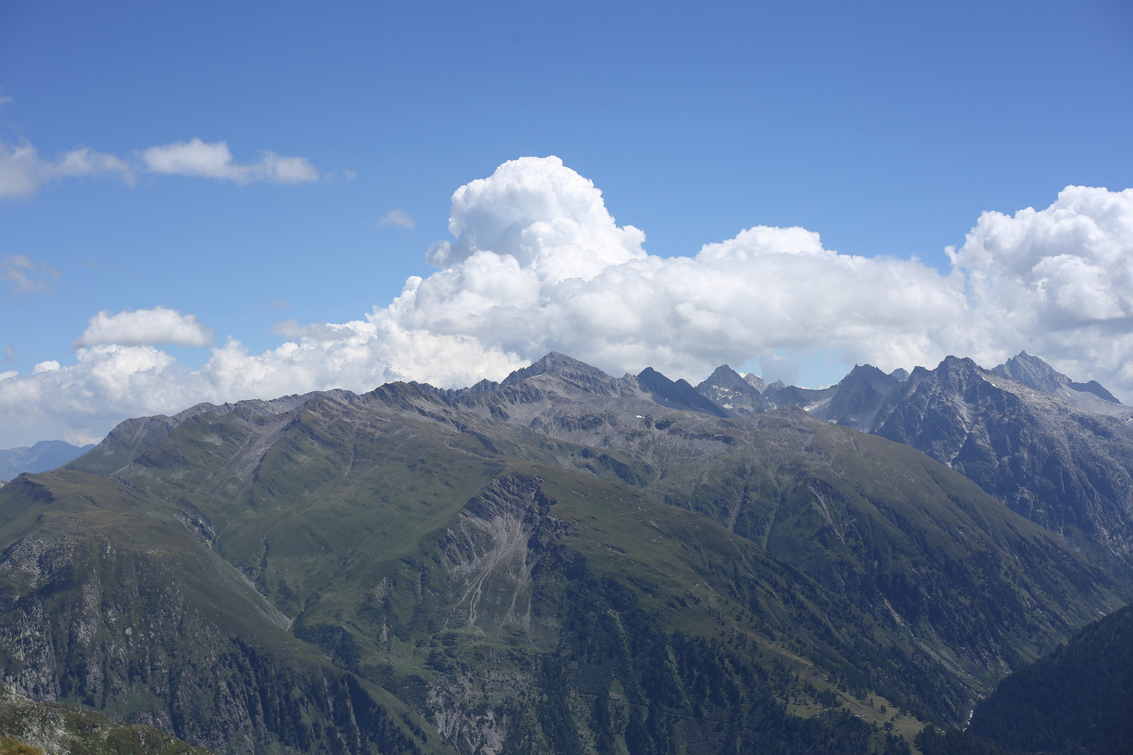
MULTIPOLYGON (((552 674, 562 679, 564 694, 599 697, 605 679, 607 686, 622 689, 614 693, 621 700, 627 700, 627 689, 637 690, 622 715, 644 713, 657 694, 646 692, 649 675, 658 672, 656 654, 675 652, 673 642, 692 653, 687 671, 701 661, 710 664, 713 658, 729 669, 730 678, 740 674, 735 667, 750 667, 733 680, 736 689, 747 689, 747 702, 716 713, 741 721, 755 715, 736 724, 749 735, 759 730, 783 738, 802 726, 851 739, 872 737, 853 720, 803 723, 786 715, 782 702, 792 697, 796 712, 829 707, 836 698, 826 681, 832 674, 833 681, 863 700, 869 692, 887 694, 891 705, 902 701, 925 710, 959 709, 971 695, 955 688, 951 675, 906 640, 875 626, 844 600, 702 516, 590 474, 491 454, 486 445, 504 444, 501 429, 514 432, 506 426, 486 427, 477 439, 467 428, 445 429, 393 412, 367 424, 366 431, 342 434, 338 437, 343 441, 332 444, 331 429, 340 428, 344 413, 357 409, 316 402, 280 427, 267 428, 275 441, 252 471, 239 458, 242 449, 257 446, 250 439, 256 430, 236 412, 201 414, 121 474, 139 489, 148 488, 151 498, 159 489, 168 492, 186 484, 191 492, 178 494, 172 508, 196 522, 202 538, 218 552, 255 544, 254 558, 247 559, 252 566, 245 568, 282 609, 299 601, 305 607, 296 617, 297 636, 323 647, 341 667, 417 704, 455 741, 483 744, 493 732, 506 738, 533 726, 531 730, 543 731, 544 721, 527 721, 523 715, 540 710, 538 702, 551 683, 547 663, 573 667, 552 674), (385 443, 367 446, 378 426, 385 443), (218 443, 224 438, 230 445, 218 443), (350 473, 339 475, 346 482, 323 482, 284 497, 281 491, 290 474, 300 467, 346 469, 339 461, 327 461, 331 445, 341 448, 339 458, 352 458, 350 473), (186 471, 199 469, 202 461, 195 457, 199 449, 216 453, 222 446, 230 456, 214 469, 223 471, 185 479, 186 471), (367 469, 368 464, 373 466, 367 469), (432 475, 419 472, 425 464, 432 475), (366 491, 366 480, 387 484, 366 491), (406 487, 397 487, 402 480, 406 487), (480 490, 468 495, 462 487, 469 484, 480 490), (215 497, 224 491, 230 496, 227 504, 215 497), (363 496, 374 503, 350 506, 363 496), (406 501, 408 496, 414 498, 406 501), (276 500, 286 500, 288 507, 279 508, 276 500), (194 501, 207 501, 207 516, 202 513, 204 504, 194 501), (350 526, 340 526, 341 522, 350 526), (293 537, 296 532, 308 538, 293 537), (606 660, 585 662, 585 646, 593 641, 577 635, 594 628, 576 626, 582 616, 597 617, 605 633, 599 644, 606 660), (679 640, 673 640, 674 632, 679 640), (707 644, 709 638, 719 647, 707 644), (763 658, 757 643, 763 643, 763 658), (724 660, 725 650, 738 653, 734 663, 724 660), (785 666, 772 686, 775 661, 785 666), (804 679, 791 677, 787 667, 803 672, 804 679), (465 681, 469 671, 474 678, 495 683, 469 690, 465 681), (803 694, 808 685, 809 693, 803 694), (834 697, 824 695, 825 703, 819 704, 819 692, 834 697), (752 709, 756 703, 758 711, 752 709), (807 704, 810 709, 803 710, 807 704), (491 722, 482 720, 485 705, 494 711, 491 722), (764 721, 767 717, 770 720, 764 721)), ((370 409, 363 415, 372 413, 370 409)), ((551 447, 563 453, 568 446, 551 447)), ((548 453, 528 451, 536 456, 548 453)), ((574 453, 580 458, 597 456, 585 448, 574 453)), ((315 472, 297 479, 327 477, 315 472)), ((667 672, 666 668, 659 671, 667 672)), ((675 688, 685 681, 695 680, 674 680, 675 688)), ((657 697, 662 712, 647 720, 676 726, 688 717, 698 719, 691 711, 705 704, 695 696, 657 697)), ((869 711, 869 718, 878 717, 869 711)), ((593 723, 589 718, 590 713, 576 715, 582 726, 593 723)), ((908 718, 905 722, 912 724, 908 718)), ((702 752, 714 752, 721 744, 712 731, 681 726, 685 729, 673 736, 685 744, 699 741, 702 752)), ((539 735, 540 746, 550 746, 544 741, 547 736, 539 735)), ((624 738, 624 733, 610 736, 624 738)))

